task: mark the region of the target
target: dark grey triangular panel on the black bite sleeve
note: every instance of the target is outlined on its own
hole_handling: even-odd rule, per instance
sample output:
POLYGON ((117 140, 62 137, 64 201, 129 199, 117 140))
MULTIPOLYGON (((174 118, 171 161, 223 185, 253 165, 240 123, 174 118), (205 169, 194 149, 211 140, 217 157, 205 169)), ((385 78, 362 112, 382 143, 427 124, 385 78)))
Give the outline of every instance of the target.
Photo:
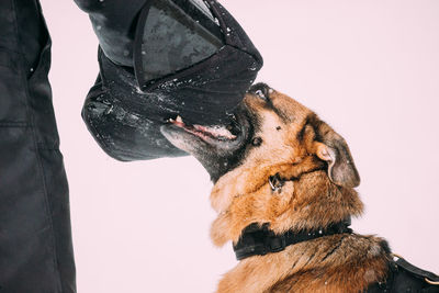
POLYGON ((134 44, 138 84, 144 88, 201 63, 224 44, 219 22, 202 0, 148 0, 134 44))

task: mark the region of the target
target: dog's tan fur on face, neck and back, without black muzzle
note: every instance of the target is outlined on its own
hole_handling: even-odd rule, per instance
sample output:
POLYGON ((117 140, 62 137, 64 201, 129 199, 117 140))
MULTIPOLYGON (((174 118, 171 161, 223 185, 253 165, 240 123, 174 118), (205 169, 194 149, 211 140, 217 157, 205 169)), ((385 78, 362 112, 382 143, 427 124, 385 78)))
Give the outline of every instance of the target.
MULTIPOLYGON (((258 116, 244 162, 214 185, 211 229, 215 245, 236 243, 245 227, 269 223, 275 233, 328 226, 359 216, 363 205, 352 187, 359 183, 346 142, 308 109, 272 91, 273 109, 248 94, 245 104, 258 116), (272 191, 268 178, 285 183, 272 191)), ((361 292, 385 278, 382 239, 341 234, 286 247, 240 261, 226 273, 217 293, 361 292)))

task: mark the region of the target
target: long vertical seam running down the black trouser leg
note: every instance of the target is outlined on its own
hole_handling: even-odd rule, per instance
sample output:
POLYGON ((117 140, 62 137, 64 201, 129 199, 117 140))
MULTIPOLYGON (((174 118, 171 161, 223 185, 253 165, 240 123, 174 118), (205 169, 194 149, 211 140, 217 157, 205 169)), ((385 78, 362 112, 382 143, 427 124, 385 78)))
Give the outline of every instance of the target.
MULTIPOLYGON (((19 55, 20 55, 20 59, 19 59, 19 64, 21 64, 21 67, 19 66, 19 75, 21 76, 22 82, 24 84, 24 92, 26 95, 26 103, 25 103, 25 108, 26 108, 26 112, 27 115, 30 117, 30 126, 32 129, 32 143, 34 145, 35 148, 37 148, 37 135, 36 135, 36 129, 35 129, 35 120, 34 120, 34 115, 30 109, 30 100, 31 100, 31 93, 29 90, 29 82, 31 80, 32 77, 30 77, 29 79, 26 78, 24 71, 23 71, 23 67, 24 67, 24 54, 22 52, 22 48, 20 46, 20 34, 19 34, 19 27, 18 27, 18 16, 16 16, 16 5, 15 5, 15 1, 12 0, 12 13, 13 13, 13 18, 14 18, 14 29, 15 29, 15 42, 16 42, 16 48, 19 49, 19 55)), ((42 11, 40 10, 40 13, 42 13, 42 11)), ((47 30, 47 26, 45 26, 47 30)), ((44 45, 44 47, 42 48, 40 56, 38 56, 38 63, 37 66, 35 67, 35 72, 41 69, 42 66, 42 58, 44 57, 44 53, 46 53, 47 50, 47 45, 50 42, 50 37, 47 36, 47 43, 44 45)), ((52 91, 50 91, 52 93, 52 91)), ((54 229, 54 223, 53 223, 53 218, 52 218, 52 213, 50 213, 50 204, 48 202, 47 195, 48 195, 48 191, 47 191, 47 179, 46 179, 46 174, 44 172, 44 167, 43 167, 43 162, 42 162, 42 158, 41 155, 35 151, 35 156, 36 156, 36 160, 38 162, 38 169, 40 172, 42 173, 42 178, 43 178, 43 194, 44 194, 44 203, 45 203, 45 209, 46 209, 46 217, 48 221, 48 224, 50 225, 50 238, 52 238, 52 246, 53 246, 53 253, 52 253, 52 258, 53 258, 53 262, 54 262, 54 269, 56 270, 57 273, 57 289, 60 293, 63 293, 63 285, 61 285, 61 275, 60 275, 60 271, 59 271, 59 263, 58 263, 58 256, 57 256, 57 247, 56 247, 56 241, 55 241, 55 229, 54 229)))

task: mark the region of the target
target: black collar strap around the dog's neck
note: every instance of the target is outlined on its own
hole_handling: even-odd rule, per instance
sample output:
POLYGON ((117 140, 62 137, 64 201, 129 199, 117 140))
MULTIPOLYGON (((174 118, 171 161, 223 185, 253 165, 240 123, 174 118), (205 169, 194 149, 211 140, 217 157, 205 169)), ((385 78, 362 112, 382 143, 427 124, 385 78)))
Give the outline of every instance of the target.
POLYGON ((247 226, 236 245, 234 250, 237 260, 243 260, 252 256, 264 256, 267 253, 279 252, 285 247, 324 236, 334 234, 352 233, 350 226, 350 217, 331 224, 330 226, 322 229, 301 230, 301 232, 285 232, 281 235, 275 235, 269 229, 269 224, 262 226, 254 223, 247 226))

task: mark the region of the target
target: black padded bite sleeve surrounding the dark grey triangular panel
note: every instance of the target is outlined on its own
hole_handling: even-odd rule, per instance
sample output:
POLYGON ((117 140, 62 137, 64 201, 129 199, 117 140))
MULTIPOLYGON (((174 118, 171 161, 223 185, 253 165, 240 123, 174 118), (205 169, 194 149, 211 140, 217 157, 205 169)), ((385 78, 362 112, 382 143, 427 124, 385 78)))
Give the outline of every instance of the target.
MULTIPOLYGON (((234 18, 217 1, 209 0, 212 13, 218 19, 223 32, 226 32, 225 45, 201 63, 140 89, 133 60, 130 59, 136 43, 134 32, 142 10, 139 2, 128 4, 112 1, 109 5, 106 2, 77 1, 90 13, 101 42, 98 53, 100 75, 82 109, 88 129, 102 149, 117 160, 187 155, 168 143, 159 131, 160 126, 177 115, 181 115, 189 124, 227 124, 230 113, 261 68, 262 57, 234 18), (111 16, 117 13, 113 14, 110 10, 110 7, 116 8, 115 2, 131 7, 123 8, 124 11, 130 10, 131 14, 125 15, 116 31, 112 29, 117 19, 111 16), (102 43, 102 40, 108 42, 113 38, 119 40, 120 44, 116 41, 111 44, 120 48, 102 43), (108 47, 112 47, 111 54, 108 47), (121 52, 125 52, 130 58, 114 56, 121 52)), ((139 34, 137 37, 142 36, 139 34)))

